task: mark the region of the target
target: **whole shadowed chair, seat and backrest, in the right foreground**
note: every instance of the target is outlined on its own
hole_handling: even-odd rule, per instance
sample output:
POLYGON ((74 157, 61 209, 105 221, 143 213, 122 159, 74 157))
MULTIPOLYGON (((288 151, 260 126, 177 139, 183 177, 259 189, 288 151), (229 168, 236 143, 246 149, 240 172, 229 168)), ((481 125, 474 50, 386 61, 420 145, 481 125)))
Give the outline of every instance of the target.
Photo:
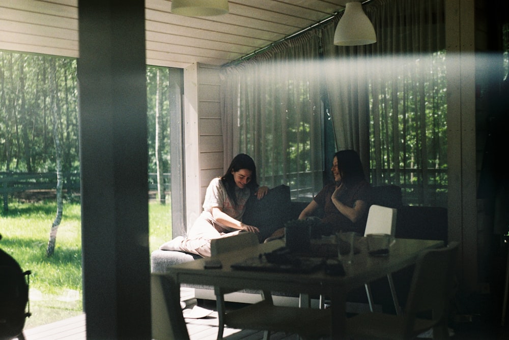
POLYGON ((414 339, 433 329, 434 339, 447 339, 458 242, 423 252, 416 263, 402 315, 362 313, 346 320, 347 336, 355 339, 414 339), (423 317, 428 315, 427 318, 423 317))

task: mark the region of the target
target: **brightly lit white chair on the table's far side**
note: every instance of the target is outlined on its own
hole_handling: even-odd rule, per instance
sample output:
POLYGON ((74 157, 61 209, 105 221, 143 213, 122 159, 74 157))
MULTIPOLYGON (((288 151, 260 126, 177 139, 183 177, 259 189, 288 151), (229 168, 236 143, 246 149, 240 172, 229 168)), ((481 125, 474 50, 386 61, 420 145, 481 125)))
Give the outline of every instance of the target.
MULTIPOLYGON (((367 214, 364 236, 368 234, 389 234, 391 237, 394 237, 394 233, 396 231, 397 214, 398 209, 373 204, 367 214)), ((392 295, 392 301, 394 302, 396 314, 400 315, 401 307, 398 302, 398 295, 396 294, 394 282, 392 280, 392 274, 387 274, 387 280, 389 282, 390 293, 392 295)), ((371 286, 369 283, 364 284, 364 286, 367 294, 367 302, 370 305, 370 311, 373 312, 374 302, 371 286)))

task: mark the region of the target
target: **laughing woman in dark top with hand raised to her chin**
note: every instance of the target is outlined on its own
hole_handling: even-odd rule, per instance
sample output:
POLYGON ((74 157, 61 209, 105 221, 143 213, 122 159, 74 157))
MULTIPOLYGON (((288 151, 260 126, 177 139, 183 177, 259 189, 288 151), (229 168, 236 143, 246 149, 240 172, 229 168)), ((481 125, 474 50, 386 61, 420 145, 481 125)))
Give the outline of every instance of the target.
POLYGON ((322 208, 322 223, 331 232, 354 231, 364 234, 370 195, 370 183, 364 177, 359 154, 342 150, 332 161, 334 182, 327 184, 299 215, 299 219, 312 216, 322 208))

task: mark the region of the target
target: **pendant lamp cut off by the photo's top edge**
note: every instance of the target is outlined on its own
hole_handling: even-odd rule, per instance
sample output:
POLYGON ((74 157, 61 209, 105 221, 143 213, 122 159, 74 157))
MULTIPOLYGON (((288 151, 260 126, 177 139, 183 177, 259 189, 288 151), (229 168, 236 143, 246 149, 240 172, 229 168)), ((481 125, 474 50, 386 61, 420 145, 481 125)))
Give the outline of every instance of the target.
POLYGON ((188 17, 205 17, 228 13, 228 0, 173 0, 172 13, 188 17))

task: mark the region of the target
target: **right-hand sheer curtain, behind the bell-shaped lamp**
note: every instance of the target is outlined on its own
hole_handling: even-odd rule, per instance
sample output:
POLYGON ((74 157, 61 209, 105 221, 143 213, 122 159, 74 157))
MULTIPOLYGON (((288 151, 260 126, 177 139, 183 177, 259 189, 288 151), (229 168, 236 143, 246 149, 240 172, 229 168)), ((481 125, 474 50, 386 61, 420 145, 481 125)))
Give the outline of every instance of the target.
POLYGON ((381 0, 364 7, 378 42, 332 44, 323 27, 326 81, 338 149, 357 150, 370 180, 403 187, 408 203, 446 206, 443 0, 381 0))

